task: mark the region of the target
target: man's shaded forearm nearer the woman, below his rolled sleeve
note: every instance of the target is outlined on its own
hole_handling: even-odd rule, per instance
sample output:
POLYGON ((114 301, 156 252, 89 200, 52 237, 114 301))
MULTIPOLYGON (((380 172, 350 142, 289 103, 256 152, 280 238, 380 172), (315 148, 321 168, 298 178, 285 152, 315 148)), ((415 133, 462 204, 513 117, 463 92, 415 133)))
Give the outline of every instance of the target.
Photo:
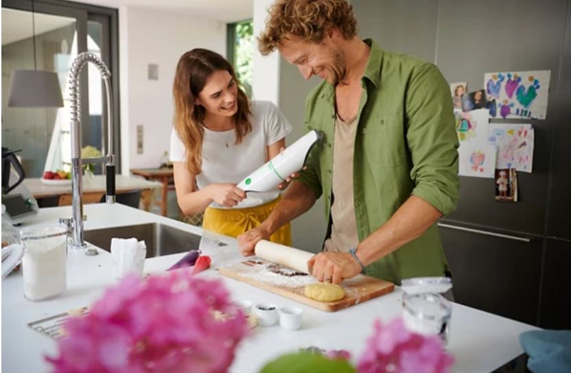
POLYGON ((315 193, 302 182, 293 182, 262 226, 273 234, 281 226, 299 217, 315 204, 315 193))

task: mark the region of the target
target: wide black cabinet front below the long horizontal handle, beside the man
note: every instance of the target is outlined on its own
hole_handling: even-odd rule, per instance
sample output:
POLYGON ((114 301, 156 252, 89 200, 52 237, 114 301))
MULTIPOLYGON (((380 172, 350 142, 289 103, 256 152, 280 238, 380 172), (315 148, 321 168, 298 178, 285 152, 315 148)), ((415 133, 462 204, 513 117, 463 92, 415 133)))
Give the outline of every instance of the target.
POLYGON ((440 232, 456 302, 537 324, 543 238, 523 242, 452 228, 440 232))

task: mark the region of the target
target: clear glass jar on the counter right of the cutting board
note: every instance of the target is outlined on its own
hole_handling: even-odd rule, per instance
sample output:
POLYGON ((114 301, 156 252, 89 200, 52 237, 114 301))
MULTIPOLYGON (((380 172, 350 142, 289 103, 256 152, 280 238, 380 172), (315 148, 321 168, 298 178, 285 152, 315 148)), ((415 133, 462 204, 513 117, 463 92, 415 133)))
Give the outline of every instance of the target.
POLYGON ((452 289, 447 277, 422 277, 402 280, 403 320, 408 330, 421 335, 438 335, 443 348, 448 346, 452 303, 442 296, 452 289))

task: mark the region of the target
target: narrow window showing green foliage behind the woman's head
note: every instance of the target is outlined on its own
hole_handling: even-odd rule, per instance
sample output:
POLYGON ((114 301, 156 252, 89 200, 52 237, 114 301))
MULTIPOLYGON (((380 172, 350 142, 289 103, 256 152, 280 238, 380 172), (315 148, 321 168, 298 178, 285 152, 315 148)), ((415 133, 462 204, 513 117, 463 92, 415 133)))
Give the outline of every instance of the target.
POLYGON ((244 86, 248 97, 252 97, 252 61, 254 58, 254 25, 252 20, 229 23, 227 58, 231 62, 244 86))

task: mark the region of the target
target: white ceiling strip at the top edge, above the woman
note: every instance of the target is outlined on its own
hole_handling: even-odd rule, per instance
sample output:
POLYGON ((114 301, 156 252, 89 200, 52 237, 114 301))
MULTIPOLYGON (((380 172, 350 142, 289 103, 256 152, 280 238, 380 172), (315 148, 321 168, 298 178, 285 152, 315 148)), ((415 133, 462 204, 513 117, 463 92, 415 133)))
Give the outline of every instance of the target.
POLYGON ((232 23, 251 19, 253 0, 80 0, 82 3, 119 8, 132 6, 232 23))

